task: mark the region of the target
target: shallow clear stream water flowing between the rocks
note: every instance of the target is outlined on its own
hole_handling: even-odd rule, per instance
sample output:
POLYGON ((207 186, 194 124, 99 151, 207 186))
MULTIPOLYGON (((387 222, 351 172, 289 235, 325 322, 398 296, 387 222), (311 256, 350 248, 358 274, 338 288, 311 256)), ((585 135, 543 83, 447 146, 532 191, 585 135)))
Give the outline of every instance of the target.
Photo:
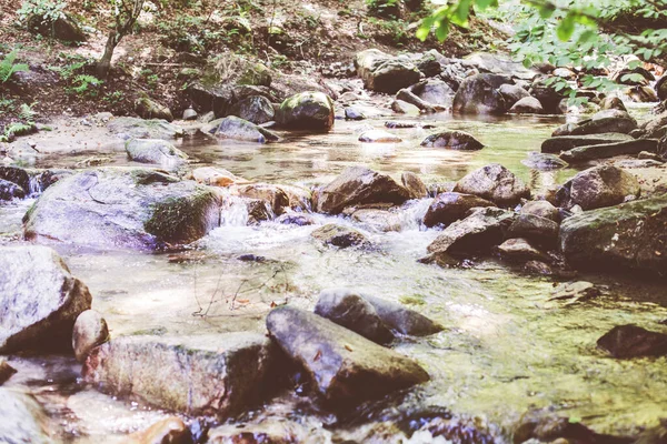
MULTIPOLYGON (((267 145, 196 140, 180 148, 201 164, 219 165, 248 180, 305 188, 327 183, 354 164, 396 178, 411 171, 428 184, 455 181, 498 162, 538 191, 575 173, 540 172, 522 163, 528 152, 539 151, 561 122, 558 119, 431 117, 428 122, 468 131, 487 148, 478 152, 420 148, 419 142, 435 131, 421 129, 392 130, 404 138, 398 144, 357 141, 361 131, 380 128, 384 120, 337 121, 330 133, 291 133, 267 145)), ((112 158, 112 164, 128 164, 122 152, 112 158)), ((51 157, 38 165, 72 167, 79 160, 51 157)), ((0 206, 0 242, 19 242, 20 219, 29 204, 28 200, 0 206)), ((604 285, 604 291, 594 300, 573 303, 552 299, 559 283, 555 279, 526 275, 494 259, 458 268, 421 264, 418 259, 438 235, 418 223, 428 204, 429 200, 410 202, 400 213, 398 232, 325 215, 315 215, 313 226, 276 222, 246 226, 245 211, 237 203, 225 210, 222 226, 183 252, 56 249, 90 287, 93 309, 104 315, 112 335, 261 332, 272 304, 311 309, 321 289, 347 286, 400 302, 446 325, 439 334, 404 341, 396 349, 418 360, 431 375, 420 390, 420 402, 496 424, 498 442, 509 440, 511 424, 532 408, 548 408, 600 433, 633 434, 658 423, 667 406, 666 359, 618 361, 595 344, 618 324, 660 330, 667 319, 664 282, 581 275, 577 279, 604 285), (311 231, 331 221, 355 225, 372 246, 337 250, 310 239, 311 231), (261 260, 239 258, 248 254, 261 260)), ((11 357, 10 363, 20 372, 9 385, 29 387, 37 395, 63 441, 110 441, 166 414, 84 387, 78 380, 79 366, 68 357, 11 357)), ((272 415, 269 411, 263 414, 272 415)))

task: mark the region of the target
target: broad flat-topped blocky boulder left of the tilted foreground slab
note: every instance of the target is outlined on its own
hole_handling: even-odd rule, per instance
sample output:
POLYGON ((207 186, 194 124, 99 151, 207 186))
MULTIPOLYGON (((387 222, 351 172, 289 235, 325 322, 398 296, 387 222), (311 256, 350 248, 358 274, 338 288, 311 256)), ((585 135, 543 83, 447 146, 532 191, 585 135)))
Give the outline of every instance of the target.
POLYGON ((257 333, 121 336, 93 349, 83 380, 188 415, 226 417, 272 393, 279 356, 257 333))

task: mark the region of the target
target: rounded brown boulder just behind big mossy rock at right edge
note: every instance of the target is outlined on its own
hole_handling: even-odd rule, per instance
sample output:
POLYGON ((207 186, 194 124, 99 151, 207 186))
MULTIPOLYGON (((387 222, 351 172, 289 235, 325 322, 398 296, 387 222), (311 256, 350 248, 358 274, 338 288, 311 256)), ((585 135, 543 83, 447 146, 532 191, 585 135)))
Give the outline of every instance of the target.
POLYGON ((584 210, 611 206, 640 192, 634 174, 611 165, 600 165, 581 171, 570 181, 570 198, 584 210))

